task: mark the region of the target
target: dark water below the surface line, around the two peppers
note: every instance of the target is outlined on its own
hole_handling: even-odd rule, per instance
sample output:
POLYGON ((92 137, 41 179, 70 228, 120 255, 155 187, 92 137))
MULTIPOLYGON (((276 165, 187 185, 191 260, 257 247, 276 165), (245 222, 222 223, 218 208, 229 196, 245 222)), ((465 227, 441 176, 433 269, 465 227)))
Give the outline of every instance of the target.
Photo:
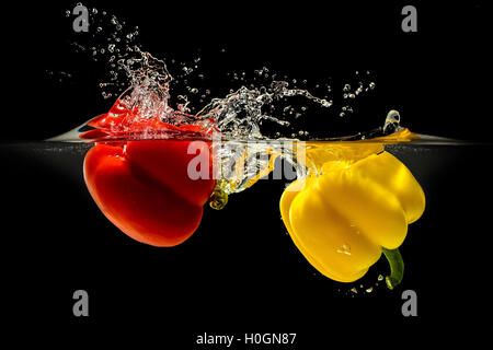
POLYGON ((405 275, 394 291, 375 285, 388 272, 383 260, 349 284, 318 273, 286 234, 282 180, 260 180, 231 195, 221 211, 206 207, 192 238, 154 248, 121 233, 92 201, 81 171, 88 144, 4 144, 9 306, 19 322, 43 319, 76 334, 81 324, 85 331, 115 323, 164 327, 165 343, 190 349, 204 331, 295 331, 299 349, 329 345, 335 331, 340 340, 357 332, 370 341, 413 332, 481 335, 491 310, 493 192, 485 163, 493 148, 387 148, 413 172, 427 200, 401 247, 405 275), (88 320, 71 314, 77 289, 90 294, 88 320), (402 316, 404 290, 416 292, 419 317, 402 316))

